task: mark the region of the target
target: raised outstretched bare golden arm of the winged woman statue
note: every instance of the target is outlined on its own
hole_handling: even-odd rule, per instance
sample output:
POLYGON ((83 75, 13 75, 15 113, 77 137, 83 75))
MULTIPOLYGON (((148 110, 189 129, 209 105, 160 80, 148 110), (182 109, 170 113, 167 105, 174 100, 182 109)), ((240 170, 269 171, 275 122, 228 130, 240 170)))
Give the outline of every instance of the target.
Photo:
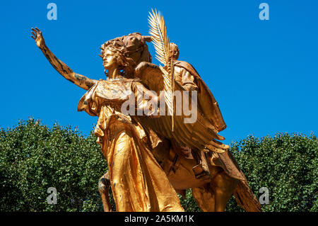
POLYGON ((47 45, 45 45, 45 40, 42 36, 42 32, 39 28, 32 28, 33 31, 31 33, 31 37, 35 40, 35 43, 37 44, 37 47, 42 50, 45 57, 47 57, 47 60, 50 64, 61 74, 65 79, 71 81, 73 84, 76 84, 77 86, 80 86, 83 89, 90 89, 91 86, 93 86, 97 80, 95 79, 89 79, 88 77, 85 77, 81 74, 76 74, 73 72, 64 62, 61 62, 52 52, 49 50, 47 45))

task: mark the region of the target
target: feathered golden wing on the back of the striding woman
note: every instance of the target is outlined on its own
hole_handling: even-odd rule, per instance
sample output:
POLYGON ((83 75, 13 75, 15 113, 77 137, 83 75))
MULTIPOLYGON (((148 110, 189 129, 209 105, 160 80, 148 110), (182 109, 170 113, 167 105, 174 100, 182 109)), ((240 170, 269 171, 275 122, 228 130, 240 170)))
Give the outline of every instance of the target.
MULTIPOLYGON (((163 90, 163 77, 161 76, 162 71, 160 67, 155 64, 142 62, 136 68, 136 77, 141 79, 142 83, 157 94, 163 90)), ((205 88, 202 87, 205 91, 205 88)), ((189 99, 189 105, 201 103, 203 101, 206 105, 206 99, 201 100, 201 91, 198 94, 198 101, 192 100, 191 97, 184 94, 184 90, 181 85, 175 82, 175 90, 179 90, 182 93, 182 98, 189 99)), ((203 93, 203 92, 202 92, 203 93)), ((211 97, 208 97, 211 98, 211 97)), ((213 102, 213 100, 210 100, 213 102)), ((209 102, 208 102, 209 103, 209 102)), ((160 117, 149 118, 148 116, 136 116, 142 125, 151 128, 158 134, 163 135, 167 139, 175 140, 179 145, 189 147, 191 149, 199 149, 204 152, 211 150, 213 152, 223 153, 228 149, 228 145, 223 145, 218 140, 224 140, 224 137, 218 135, 218 128, 216 128, 216 117, 209 115, 209 111, 206 111, 201 107, 201 104, 197 104, 197 118, 194 123, 184 123, 184 118, 188 118, 187 115, 174 115, 175 128, 171 130, 171 115, 160 115, 160 117)), ((209 106, 214 108, 215 106, 209 106)), ((213 111, 211 111, 213 112, 213 111)))

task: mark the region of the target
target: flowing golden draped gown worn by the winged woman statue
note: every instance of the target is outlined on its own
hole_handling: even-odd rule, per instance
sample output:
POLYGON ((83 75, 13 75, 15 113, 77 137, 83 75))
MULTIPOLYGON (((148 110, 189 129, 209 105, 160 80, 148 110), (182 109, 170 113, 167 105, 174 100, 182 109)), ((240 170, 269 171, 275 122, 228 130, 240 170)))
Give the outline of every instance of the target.
POLYGON ((133 80, 98 81, 78 111, 99 116, 95 135, 107 160, 117 211, 184 211, 175 189, 151 153, 149 135, 119 111, 133 80))

